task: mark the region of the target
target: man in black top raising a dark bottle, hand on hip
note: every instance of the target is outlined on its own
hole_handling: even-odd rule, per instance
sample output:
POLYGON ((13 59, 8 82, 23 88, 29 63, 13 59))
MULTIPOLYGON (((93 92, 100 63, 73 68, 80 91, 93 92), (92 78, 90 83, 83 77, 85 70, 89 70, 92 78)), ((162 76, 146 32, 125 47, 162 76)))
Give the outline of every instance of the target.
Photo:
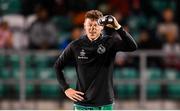
POLYGON ((74 101, 75 110, 113 110, 116 52, 134 51, 137 44, 115 17, 103 16, 98 10, 86 12, 84 30, 86 35, 72 41, 57 59, 58 82, 65 95, 74 101), (117 33, 116 36, 106 29, 117 33), (63 68, 72 61, 77 72, 76 89, 69 87, 63 74, 63 68))

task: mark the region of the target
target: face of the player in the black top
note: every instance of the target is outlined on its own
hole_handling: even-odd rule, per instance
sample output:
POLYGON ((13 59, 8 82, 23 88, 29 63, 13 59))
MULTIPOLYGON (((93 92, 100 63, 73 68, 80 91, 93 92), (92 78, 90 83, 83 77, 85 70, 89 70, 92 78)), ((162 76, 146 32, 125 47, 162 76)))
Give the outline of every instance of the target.
POLYGON ((88 38, 90 40, 95 40, 100 36, 103 26, 98 25, 97 20, 86 18, 84 29, 88 38))

